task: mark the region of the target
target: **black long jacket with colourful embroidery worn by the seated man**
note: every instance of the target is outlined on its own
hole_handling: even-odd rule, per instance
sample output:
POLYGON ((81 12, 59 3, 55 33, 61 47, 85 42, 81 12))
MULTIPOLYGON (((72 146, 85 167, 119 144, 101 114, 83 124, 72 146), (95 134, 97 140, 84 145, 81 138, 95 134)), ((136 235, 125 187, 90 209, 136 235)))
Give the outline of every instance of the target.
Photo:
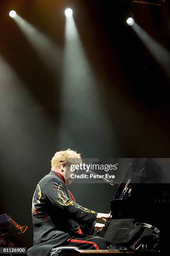
POLYGON ((65 183, 51 171, 37 184, 32 199, 34 241, 28 256, 47 255, 51 248, 66 242, 79 228, 90 234, 96 216, 97 212, 72 200, 65 183))

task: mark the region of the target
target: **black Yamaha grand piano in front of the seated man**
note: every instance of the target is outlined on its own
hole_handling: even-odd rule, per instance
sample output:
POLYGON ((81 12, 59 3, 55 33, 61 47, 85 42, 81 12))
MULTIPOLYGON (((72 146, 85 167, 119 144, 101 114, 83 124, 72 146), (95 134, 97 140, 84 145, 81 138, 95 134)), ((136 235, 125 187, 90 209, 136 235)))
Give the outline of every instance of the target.
POLYGON ((128 165, 117 186, 110 204, 112 220, 107 221, 98 236, 110 248, 165 251, 169 211, 168 204, 159 204, 159 195, 162 190, 168 191, 169 184, 139 183, 141 175, 134 172, 134 166, 128 165))

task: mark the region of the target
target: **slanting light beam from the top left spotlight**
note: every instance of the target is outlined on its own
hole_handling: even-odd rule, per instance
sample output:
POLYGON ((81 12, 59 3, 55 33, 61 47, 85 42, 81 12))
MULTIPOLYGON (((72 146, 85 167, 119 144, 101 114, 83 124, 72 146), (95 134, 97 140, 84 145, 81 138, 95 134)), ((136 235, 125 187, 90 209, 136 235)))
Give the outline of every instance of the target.
POLYGON ((56 68, 60 69, 61 66, 61 49, 57 47, 50 38, 20 17, 20 15, 17 15, 15 22, 18 24, 19 28, 35 49, 40 59, 42 59, 46 67, 52 71, 52 74, 56 74, 56 68))

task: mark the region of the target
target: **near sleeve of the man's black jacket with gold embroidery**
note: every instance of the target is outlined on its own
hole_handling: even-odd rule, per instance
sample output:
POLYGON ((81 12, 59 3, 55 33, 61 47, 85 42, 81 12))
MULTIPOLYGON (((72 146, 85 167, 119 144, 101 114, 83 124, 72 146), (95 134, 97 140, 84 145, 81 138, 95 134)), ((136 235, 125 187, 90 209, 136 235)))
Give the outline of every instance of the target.
POLYGON ((77 223, 89 228, 93 225, 97 212, 89 210, 67 196, 67 187, 54 177, 49 179, 44 186, 43 195, 47 202, 50 202, 57 209, 62 210, 67 218, 75 220, 77 223))

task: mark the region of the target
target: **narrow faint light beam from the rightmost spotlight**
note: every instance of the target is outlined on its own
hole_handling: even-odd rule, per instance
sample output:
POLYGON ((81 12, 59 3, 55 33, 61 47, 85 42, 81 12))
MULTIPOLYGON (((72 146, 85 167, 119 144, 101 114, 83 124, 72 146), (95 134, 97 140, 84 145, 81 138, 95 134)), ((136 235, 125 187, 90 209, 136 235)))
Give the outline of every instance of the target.
POLYGON ((135 33, 143 41, 143 44, 148 48, 160 67, 170 77, 170 52, 163 47, 158 41, 152 38, 143 28, 137 23, 132 26, 135 33))

